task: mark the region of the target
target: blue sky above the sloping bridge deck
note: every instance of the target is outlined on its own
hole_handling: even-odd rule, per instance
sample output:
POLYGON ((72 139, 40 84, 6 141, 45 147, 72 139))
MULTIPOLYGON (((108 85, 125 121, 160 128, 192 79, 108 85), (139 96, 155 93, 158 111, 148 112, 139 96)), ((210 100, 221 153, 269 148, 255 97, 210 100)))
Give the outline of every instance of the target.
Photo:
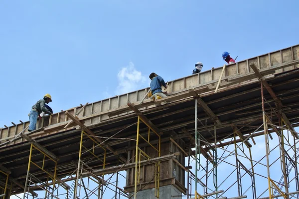
POLYGON ((0 127, 299 43, 299 1, 0 1, 0 127))

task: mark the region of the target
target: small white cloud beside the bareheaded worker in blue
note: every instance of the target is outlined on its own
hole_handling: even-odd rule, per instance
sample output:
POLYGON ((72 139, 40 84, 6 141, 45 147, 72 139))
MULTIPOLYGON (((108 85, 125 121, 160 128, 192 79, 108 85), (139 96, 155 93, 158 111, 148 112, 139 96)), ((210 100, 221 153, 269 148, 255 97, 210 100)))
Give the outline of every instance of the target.
POLYGON ((146 76, 142 75, 142 72, 137 70, 132 62, 129 63, 129 66, 121 68, 117 74, 117 78, 117 95, 133 92, 149 86, 149 80, 147 81, 146 76))

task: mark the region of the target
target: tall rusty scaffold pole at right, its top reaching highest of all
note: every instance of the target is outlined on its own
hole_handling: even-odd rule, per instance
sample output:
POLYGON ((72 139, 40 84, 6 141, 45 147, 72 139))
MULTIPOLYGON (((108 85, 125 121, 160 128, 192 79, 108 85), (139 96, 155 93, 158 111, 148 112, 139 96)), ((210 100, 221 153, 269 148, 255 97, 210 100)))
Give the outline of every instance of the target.
POLYGON ((268 175, 268 187, 269 187, 269 199, 273 199, 271 193, 271 179, 270 179, 270 166, 269 166, 269 150, 268 150, 268 138, 267 138, 267 124, 265 115, 265 105, 264 105, 264 90, 263 83, 261 82, 261 94, 262 94, 262 109, 263 109, 263 123, 264 123, 264 134, 265 134, 265 146, 266 146, 266 158, 267 158, 267 175, 268 175))

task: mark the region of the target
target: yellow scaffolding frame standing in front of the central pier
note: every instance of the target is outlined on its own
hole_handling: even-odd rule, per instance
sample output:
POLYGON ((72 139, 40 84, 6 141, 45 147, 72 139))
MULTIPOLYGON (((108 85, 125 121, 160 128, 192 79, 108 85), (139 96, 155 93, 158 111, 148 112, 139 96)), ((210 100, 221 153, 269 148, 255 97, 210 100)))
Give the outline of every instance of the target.
MULTIPOLYGON (((140 167, 141 167, 141 157, 149 160, 150 157, 144 150, 139 147, 139 138, 142 138, 146 143, 149 144, 157 152, 157 157, 161 155, 161 136, 152 127, 150 127, 147 122, 145 122, 140 116, 137 119, 137 136, 136 136, 136 153, 135 153, 135 184, 134 184, 134 199, 137 199, 137 185, 140 183, 140 167), (140 122, 143 122, 148 127, 148 138, 146 139, 140 133, 140 122), (150 143, 150 130, 158 137, 157 147, 150 143)), ((154 163, 154 196, 159 199, 159 185, 160 185, 160 161, 154 163)))

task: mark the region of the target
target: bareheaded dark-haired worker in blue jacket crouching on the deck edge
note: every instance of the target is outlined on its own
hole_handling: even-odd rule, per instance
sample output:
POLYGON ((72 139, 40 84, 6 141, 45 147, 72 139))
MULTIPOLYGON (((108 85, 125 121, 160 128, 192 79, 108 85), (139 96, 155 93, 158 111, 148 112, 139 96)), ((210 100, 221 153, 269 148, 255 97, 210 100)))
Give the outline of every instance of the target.
POLYGON ((167 88, 164 79, 154 72, 150 73, 149 78, 151 80, 150 89, 151 89, 152 97, 154 97, 155 99, 167 97, 162 92, 162 88, 161 88, 161 86, 167 88))

